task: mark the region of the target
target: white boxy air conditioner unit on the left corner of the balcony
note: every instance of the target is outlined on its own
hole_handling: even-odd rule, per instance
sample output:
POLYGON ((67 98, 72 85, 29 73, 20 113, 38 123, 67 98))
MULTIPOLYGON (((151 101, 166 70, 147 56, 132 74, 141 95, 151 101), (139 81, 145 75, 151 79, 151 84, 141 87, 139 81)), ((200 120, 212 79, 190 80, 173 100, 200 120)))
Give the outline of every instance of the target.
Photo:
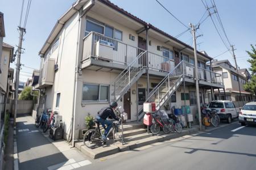
POLYGON ((113 48, 114 44, 112 42, 98 40, 96 42, 96 56, 112 61, 114 55, 113 48))

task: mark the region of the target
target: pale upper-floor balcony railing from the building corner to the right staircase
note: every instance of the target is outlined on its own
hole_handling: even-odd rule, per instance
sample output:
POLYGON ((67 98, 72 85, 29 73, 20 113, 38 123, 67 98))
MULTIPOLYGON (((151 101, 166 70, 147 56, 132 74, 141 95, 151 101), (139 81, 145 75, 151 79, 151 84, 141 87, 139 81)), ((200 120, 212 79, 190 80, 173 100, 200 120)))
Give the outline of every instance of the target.
MULTIPOLYGON (((121 41, 101 35, 100 33, 90 32, 84 37, 84 47, 82 53, 82 62, 86 59, 102 59, 108 62, 118 63, 121 65, 129 65, 144 49, 125 44, 121 41), (99 49, 98 43, 104 42, 108 48, 99 49), (112 49, 112 50, 108 50, 112 49), (105 50, 105 56, 100 54, 98 50, 105 50), (108 50, 108 52, 106 52, 108 50)), ((151 52, 148 55, 148 67, 150 70, 169 72, 174 68, 174 61, 167 57, 160 56, 151 52)), ((146 58, 143 63, 146 63, 146 58)))

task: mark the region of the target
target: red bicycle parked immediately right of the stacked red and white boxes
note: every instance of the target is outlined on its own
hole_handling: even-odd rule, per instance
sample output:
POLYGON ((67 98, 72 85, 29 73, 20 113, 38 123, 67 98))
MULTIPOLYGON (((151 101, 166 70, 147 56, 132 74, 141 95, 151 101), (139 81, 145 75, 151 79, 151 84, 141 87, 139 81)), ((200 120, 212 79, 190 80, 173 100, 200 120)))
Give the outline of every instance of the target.
POLYGON ((159 116, 156 113, 152 114, 152 125, 150 126, 151 133, 154 135, 159 134, 160 128, 163 129, 164 133, 170 133, 168 124, 164 124, 163 121, 160 121, 159 116))

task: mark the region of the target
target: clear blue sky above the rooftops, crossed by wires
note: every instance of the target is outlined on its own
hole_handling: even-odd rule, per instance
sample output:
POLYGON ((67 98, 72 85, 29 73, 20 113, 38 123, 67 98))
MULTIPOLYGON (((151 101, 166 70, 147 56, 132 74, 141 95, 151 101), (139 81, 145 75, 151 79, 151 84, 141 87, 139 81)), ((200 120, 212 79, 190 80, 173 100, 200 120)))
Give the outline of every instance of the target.
MULTIPOLYGON (((25 0, 27 3, 28 0, 25 0)), ((111 0, 115 5, 124 8, 126 11, 138 16, 142 20, 155 25, 172 36, 179 35, 185 31, 184 25, 180 24, 168 14, 155 0, 111 0)), ((159 0, 168 8, 181 22, 188 25, 197 23, 205 12, 205 7, 200 0, 159 0)), ((27 21, 27 33, 24 36, 21 62, 27 67, 39 68, 40 58, 38 52, 46 41, 57 19, 72 5, 74 0, 32 0, 30 14, 27 21)), ((207 0, 210 4, 210 0, 207 0)), ((256 44, 256 1, 254 0, 215 0, 218 13, 224 25, 226 34, 231 44, 235 45, 238 66, 248 68, 246 61, 246 50, 250 50, 250 44, 256 44)), ((18 44, 18 31, 20 8, 22 0, 1 0, 0 11, 4 13, 6 37, 4 41, 10 45, 18 44)), ((198 50, 205 50, 209 56, 215 57, 226 51, 210 18, 200 25, 197 35, 203 36, 197 39, 198 50)), ((189 32, 180 36, 179 39, 191 44, 192 36, 189 32)), ((225 53, 217 59, 234 60, 230 53, 225 53)), ((15 67, 14 64, 11 65, 15 67)), ((31 76, 32 69, 22 67, 20 80, 24 81, 31 76)))

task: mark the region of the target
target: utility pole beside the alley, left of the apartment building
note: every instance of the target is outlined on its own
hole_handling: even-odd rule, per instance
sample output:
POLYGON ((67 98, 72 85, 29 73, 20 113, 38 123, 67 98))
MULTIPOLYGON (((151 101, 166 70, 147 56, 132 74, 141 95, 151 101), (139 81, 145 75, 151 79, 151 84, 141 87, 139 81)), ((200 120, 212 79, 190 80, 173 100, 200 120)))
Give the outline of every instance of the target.
POLYGON ((19 91, 19 70, 20 70, 20 56, 22 53, 22 41, 23 35, 26 33, 26 29, 22 27, 19 28, 19 45, 18 45, 18 54, 17 54, 17 64, 16 64, 16 80, 15 80, 15 110, 14 110, 14 126, 16 126, 16 115, 18 108, 18 91, 19 91))

